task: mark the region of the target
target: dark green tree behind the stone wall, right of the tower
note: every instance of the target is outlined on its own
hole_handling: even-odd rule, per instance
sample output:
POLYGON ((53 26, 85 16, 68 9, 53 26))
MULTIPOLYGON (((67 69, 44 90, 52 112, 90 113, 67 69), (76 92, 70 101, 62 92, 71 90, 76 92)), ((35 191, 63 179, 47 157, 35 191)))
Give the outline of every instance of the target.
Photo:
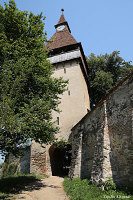
POLYGON ((126 62, 119 54, 119 51, 113 51, 111 54, 100 56, 91 54, 87 58, 91 107, 95 106, 120 79, 133 70, 131 62, 126 62))

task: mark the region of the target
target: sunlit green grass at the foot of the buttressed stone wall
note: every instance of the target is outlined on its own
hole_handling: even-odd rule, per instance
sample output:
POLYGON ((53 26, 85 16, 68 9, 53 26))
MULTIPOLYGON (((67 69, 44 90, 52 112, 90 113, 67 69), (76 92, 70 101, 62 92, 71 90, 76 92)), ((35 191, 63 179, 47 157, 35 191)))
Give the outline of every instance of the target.
POLYGON ((133 200, 133 196, 128 192, 117 189, 102 191, 100 188, 90 184, 88 180, 80 180, 79 178, 73 180, 65 178, 64 190, 70 200, 133 200))

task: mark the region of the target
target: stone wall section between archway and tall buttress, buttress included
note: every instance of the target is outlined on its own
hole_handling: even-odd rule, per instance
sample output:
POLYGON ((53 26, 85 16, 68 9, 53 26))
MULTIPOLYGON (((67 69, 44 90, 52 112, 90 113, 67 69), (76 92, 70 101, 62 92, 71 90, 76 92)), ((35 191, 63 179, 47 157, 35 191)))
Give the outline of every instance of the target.
POLYGON ((72 130, 72 165, 69 175, 99 184, 111 173, 106 102, 86 115, 72 130))

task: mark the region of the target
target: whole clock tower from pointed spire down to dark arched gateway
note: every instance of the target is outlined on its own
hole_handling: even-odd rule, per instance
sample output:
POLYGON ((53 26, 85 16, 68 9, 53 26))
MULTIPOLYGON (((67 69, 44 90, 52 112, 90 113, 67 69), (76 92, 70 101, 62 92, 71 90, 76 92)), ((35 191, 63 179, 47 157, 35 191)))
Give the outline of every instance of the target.
MULTIPOLYGON (((62 9, 62 15, 58 24, 55 25, 56 32, 51 37, 47 49, 49 51, 48 59, 55 66, 54 77, 63 77, 64 80, 69 80, 68 90, 61 95, 59 105, 61 112, 53 112, 53 120, 57 121, 60 128, 56 135, 57 139, 65 139, 69 142, 72 127, 90 110, 90 101, 85 55, 81 43, 78 43, 71 35, 63 11, 62 9)), ((70 152, 70 146, 68 151, 70 152)), ((46 146, 44 150, 40 148, 40 145, 33 143, 30 172, 42 171, 50 175, 63 174, 66 153, 66 150, 55 149, 53 146, 46 146)))

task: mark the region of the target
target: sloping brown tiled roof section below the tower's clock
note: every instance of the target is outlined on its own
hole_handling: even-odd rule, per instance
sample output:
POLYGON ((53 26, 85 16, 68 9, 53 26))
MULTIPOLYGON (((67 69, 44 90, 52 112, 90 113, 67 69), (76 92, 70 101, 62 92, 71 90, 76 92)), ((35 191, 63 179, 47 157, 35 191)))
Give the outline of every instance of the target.
POLYGON ((56 32, 51 37, 51 42, 48 43, 47 49, 53 50, 56 48, 64 47, 71 44, 76 44, 77 41, 69 32, 68 28, 66 27, 63 31, 56 32))

